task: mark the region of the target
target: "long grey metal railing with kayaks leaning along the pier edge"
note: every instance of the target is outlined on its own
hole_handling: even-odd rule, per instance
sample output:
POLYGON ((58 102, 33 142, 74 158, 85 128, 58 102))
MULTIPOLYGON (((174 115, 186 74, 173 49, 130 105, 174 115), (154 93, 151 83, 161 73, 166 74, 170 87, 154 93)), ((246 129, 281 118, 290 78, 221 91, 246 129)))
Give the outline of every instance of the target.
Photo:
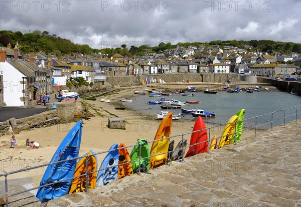
MULTIPOLYGON (((279 121, 279 120, 283 120, 283 125, 285 126, 285 122, 287 121, 288 118, 290 118, 291 120, 289 121, 292 121, 292 120, 296 120, 298 118, 301 117, 301 110, 298 111, 298 108, 301 108, 301 105, 298 105, 298 106, 294 106, 294 107, 290 107, 290 108, 286 108, 286 109, 282 109, 282 110, 277 110, 277 111, 273 111, 273 112, 270 112, 270 113, 267 113, 267 114, 263 114, 263 115, 260 115, 260 116, 255 116, 255 117, 252 117, 252 118, 248 118, 248 119, 244 119, 243 122, 246 123, 250 120, 255 120, 255 126, 251 126, 251 127, 244 127, 241 131, 236 131, 236 127, 234 127, 234 132, 231 133, 231 134, 227 134, 226 136, 229 136, 229 135, 234 135, 234 144, 236 144, 237 140, 236 140, 236 135, 237 133, 242 133, 244 131, 249 131, 249 130, 252 130, 252 129, 255 129, 255 136, 257 135, 257 130, 262 130, 260 129, 261 126, 264 126, 264 125, 267 125, 267 124, 271 124, 271 130, 273 129, 273 123, 276 122, 276 121, 279 121), (285 111, 287 110, 292 110, 292 109, 295 109, 293 113, 285 113, 285 111), (283 113, 282 113, 283 112, 283 113), (274 114, 275 113, 281 113, 283 114, 283 116, 281 116, 280 118, 276 118, 274 119, 274 114), (264 121, 264 123, 262 124, 258 124, 258 119, 261 118, 261 117, 266 117, 266 116, 271 116, 271 120, 270 121, 264 121), (291 118, 291 117, 295 117, 295 118, 291 118)), ((225 123, 225 124, 218 124, 216 126, 213 126, 213 127, 208 127, 208 128, 205 128, 205 129, 201 129, 201 130, 198 130, 198 131, 193 131, 193 132, 187 132, 187 133, 183 133, 183 134, 178 134, 178 135, 174 135, 174 136, 170 136, 170 137, 166 137, 166 138, 162 138, 162 139, 157 139, 157 140, 152 140, 152 141, 147 141, 145 143, 138 143, 138 144, 134 144, 134 145, 128 145, 128 146, 125 146, 125 147, 120 147, 120 148, 116 148, 116 149, 112 149, 112 150, 106 150, 106 151, 101 151, 101 152, 97 152, 97 153, 94 153, 94 154, 89 154, 89 155, 84 155, 84 156, 78 156, 78 157, 75 157, 75 158, 70 158, 70 159, 66 159, 66 160, 60 160, 60 161, 57 161, 57 162, 52 162, 52 163, 47 163, 47 164, 41 164, 41 165, 38 165, 38 166, 34 166, 34 167, 27 167, 27 168, 24 168, 24 169, 20 169, 20 170, 16 170, 16 171, 11 171, 11 172, 5 172, 5 173, 2 173, 0 174, 0 178, 1 177, 5 177, 5 196, 2 196, 0 197, 0 199, 3 199, 5 198, 6 199, 6 206, 9 206, 9 197, 12 197, 12 196, 15 196, 15 195, 18 195, 18 194, 22 194, 22 193, 25 193, 25 192, 28 192, 28 191, 31 191, 31 190, 35 190, 35 189, 38 189, 38 188, 41 188, 41 187, 46 187, 46 186, 50 186, 50 185, 53 185, 53 184, 56 184, 56 183, 60 183, 60 182, 64 182, 64 181, 67 181, 67 180, 70 180, 70 179, 74 179, 74 178, 77 178, 77 177, 81 177, 81 176, 85 176, 85 179, 86 179, 86 191, 88 192, 89 191, 89 175, 93 174, 93 173, 96 173, 96 172, 99 172, 101 170, 105 170, 105 169, 109 169, 109 168, 113 168, 113 167, 118 167, 119 165, 126 165, 126 164, 129 164, 131 162, 135 162, 135 161, 139 161, 139 167, 138 167, 138 172, 140 172, 140 167, 141 167, 141 160, 142 159, 146 159, 146 158, 151 158, 151 157, 156 157, 158 155, 162 155, 162 154, 168 154, 169 152, 164 152, 164 153, 160 153, 160 154, 156 154, 156 155, 153 155, 153 156, 147 156, 147 157, 141 157, 141 147, 145 144, 149 144, 149 143, 153 143, 153 142, 157 142, 157 141, 161 141, 161 140, 165 140, 165 139, 175 139, 176 137, 180 137, 181 136, 181 140, 182 140, 182 143, 184 143, 184 136, 185 135, 189 135, 189 134, 192 134, 192 133, 196 133, 196 132, 201 132, 201 131, 204 131, 204 130, 207 130, 207 135, 208 135, 208 140, 205 140, 203 142, 198 142, 198 143, 195 143, 195 144, 192 144, 192 145, 188 145, 188 146, 184 146, 182 144, 182 152, 183 152, 183 156, 182 156, 182 159, 179 160, 179 161, 182 161, 184 162, 184 151, 186 148, 189 148, 191 146, 195 146, 195 145, 198 145, 198 144, 202 144, 202 143, 206 143, 208 142, 208 153, 210 153, 210 144, 211 142, 215 139, 215 140, 218 140, 222 137, 225 137, 224 136, 219 136, 219 137, 216 137, 214 139, 211 139, 211 131, 212 129, 214 128, 217 128, 217 127, 223 127, 223 126, 226 126, 226 125, 230 125, 230 124, 233 124, 233 123, 239 123, 241 121, 235 121, 235 122, 231 122, 231 123, 225 123), (115 150, 119 150, 119 149, 124 149, 124 148, 129 148, 129 147, 134 147, 134 146, 139 146, 139 159, 137 160, 131 160, 129 162, 124 162, 122 164, 118 164, 118 165, 111 165, 109 167, 106 167, 106 168, 101 168, 101 169, 98 169, 98 170, 95 170, 95 171, 88 171, 88 158, 91 157, 91 156, 94 156, 94 155, 99 155, 99 154, 103 154, 103 153, 108 153, 108 152, 111 152, 111 151, 115 151, 115 150), (80 159, 80 158, 85 158, 86 159, 86 171, 84 174, 81 174, 81 175, 78 175, 78 176, 73 176, 71 178, 68 178, 68 179, 63 179, 63 180, 60 180, 60 181, 56 181, 56 182, 52 182, 52 183, 49 183, 49 184, 45 184, 45 185, 41 185, 41 186, 38 186, 38 187, 33 187, 33 188, 30 188, 30 189, 26 189, 26 190, 22 190, 22 191, 18 191, 18 192, 15 192, 15 193, 11 193, 9 194, 9 185, 8 185, 8 176, 9 175, 12 175, 12 174, 15 174, 15 173, 20 173, 20 172, 24 172, 24 171, 28 171, 28 170, 32 170, 32 169, 36 169, 36 168, 41 168, 41 167, 45 167, 45 166, 48 166, 48 165, 53 165, 53 164, 57 164, 57 163, 61 163, 61 162, 65 162, 65 161, 71 161, 71 160, 75 160, 75 159, 80 159)), ((281 123, 281 124, 282 124, 281 123)), ((280 125, 280 124, 278 124, 280 125)), ((216 145, 218 145, 218 143, 216 143, 216 145)), ((180 149, 178 149, 180 150, 180 149)), ((172 152, 174 152, 176 150, 173 150, 172 152)))

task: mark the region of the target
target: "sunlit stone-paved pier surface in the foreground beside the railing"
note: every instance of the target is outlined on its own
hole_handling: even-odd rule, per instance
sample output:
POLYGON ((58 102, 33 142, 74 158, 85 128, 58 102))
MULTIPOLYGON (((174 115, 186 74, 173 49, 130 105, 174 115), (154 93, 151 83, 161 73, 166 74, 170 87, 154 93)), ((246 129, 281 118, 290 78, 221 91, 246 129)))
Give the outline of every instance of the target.
MULTIPOLYGON (((11 197, 9 206, 301 206, 300 124, 300 119, 292 121, 150 174, 134 174, 47 203, 28 192, 11 197)), ((2 182, 2 195, 3 189, 2 182)), ((22 185, 10 186, 17 189, 22 185)))

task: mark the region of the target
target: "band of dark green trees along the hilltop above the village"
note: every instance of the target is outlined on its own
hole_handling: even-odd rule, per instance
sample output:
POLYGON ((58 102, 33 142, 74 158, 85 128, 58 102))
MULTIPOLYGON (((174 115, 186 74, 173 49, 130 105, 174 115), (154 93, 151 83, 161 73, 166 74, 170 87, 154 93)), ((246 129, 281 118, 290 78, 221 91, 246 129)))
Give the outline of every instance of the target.
POLYGON ((92 54, 107 54, 108 57, 115 53, 119 53, 123 56, 143 56, 149 53, 163 53, 166 49, 176 48, 177 46, 183 46, 188 48, 189 46, 206 46, 219 45, 220 48, 224 46, 233 46, 244 49, 244 46, 252 46, 252 50, 258 49, 262 52, 279 52, 281 54, 289 54, 291 52, 301 53, 301 44, 275 42, 272 40, 231 40, 231 41, 211 41, 209 43, 193 42, 193 43, 178 43, 172 45, 171 43, 160 43, 158 46, 150 47, 148 45, 142 45, 140 47, 130 46, 126 48, 126 45, 121 45, 121 48, 105 48, 105 49, 92 49, 89 45, 80 45, 71 42, 70 40, 57 37, 55 34, 50 35, 49 32, 41 32, 36 30, 32 33, 23 34, 22 32, 13 31, 0 31, 0 46, 7 47, 9 43, 14 47, 16 42, 19 43, 19 48, 22 53, 39 52, 42 51, 45 54, 60 57, 62 55, 73 55, 74 53, 82 53, 86 55, 92 54))

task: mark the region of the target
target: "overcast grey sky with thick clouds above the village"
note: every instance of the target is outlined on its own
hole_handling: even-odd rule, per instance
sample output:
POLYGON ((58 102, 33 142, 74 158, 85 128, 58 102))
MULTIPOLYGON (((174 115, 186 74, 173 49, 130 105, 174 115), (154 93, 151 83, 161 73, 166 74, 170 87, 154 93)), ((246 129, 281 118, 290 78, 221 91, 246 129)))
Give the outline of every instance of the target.
POLYGON ((3 1, 0 29, 48 31, 92 48, 160 42, 301 43, 301 1, 3 1))

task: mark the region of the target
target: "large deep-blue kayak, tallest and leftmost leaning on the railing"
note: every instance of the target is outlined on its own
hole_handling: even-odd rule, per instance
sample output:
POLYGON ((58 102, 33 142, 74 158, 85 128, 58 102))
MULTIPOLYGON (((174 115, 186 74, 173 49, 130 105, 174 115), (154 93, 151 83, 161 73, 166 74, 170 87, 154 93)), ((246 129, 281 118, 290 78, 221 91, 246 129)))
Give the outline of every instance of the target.
POLYGON ((40 199, 41 202, 46 202, 48 200, 59 198, 62 195, 68 194, 72 183, 72 179, 69 178, 73 177, 76 167, 76 159, 69 159, 78 157, 81 136, 82 121, 79 121, 68 132, 66 137, 57 148, 50 161, 50 163, 54 164, 47 166, 47 169, 40 182, 40 186, 58 182, 60 180, 64 181, 40 187, 36 197, 40 199), (66 161, 55 163, 61 160, 66 161))

